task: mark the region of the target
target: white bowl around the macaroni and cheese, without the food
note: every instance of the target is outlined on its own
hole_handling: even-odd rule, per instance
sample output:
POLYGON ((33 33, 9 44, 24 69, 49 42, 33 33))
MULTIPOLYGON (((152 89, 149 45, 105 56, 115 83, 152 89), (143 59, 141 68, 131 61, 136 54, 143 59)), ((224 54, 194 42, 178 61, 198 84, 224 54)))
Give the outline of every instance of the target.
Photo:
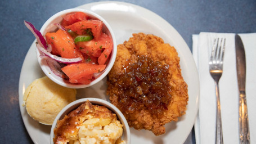
POLYGON ((123 125, 122 140, 126 141, 127 144, 129 144, 130 143, 130 137, 131 137, 130 135, 131 135, 131 133, 130 133, 129 125, 128 125, 127 120, 125 119, 124 115, 121 113, 121 111, 117 107, 112 105, 110 102, 107 102, 105 100, 101 100, 100 98, 81 98, 81 99, 73 101, 69 105, 65 106, 60 111, 60 113, 56 116, 56 118, 55 118, 55 120, 54 120, 54 122, 52 124, 51 134, 50 134, 50 142, 51 142, 51 144, 53 144, 53 137, 55 136, 53 130, 56 127, 57 120, 63 119, 66 114, 69 114, 72 110, 77 109, 77 107, 82 105, 87 100, 89 100, 93 105, 106 106, 109 110, 113 111, 116 114, 116 116, 118 117, 118 119, 120 120, 120 122, 123 125))

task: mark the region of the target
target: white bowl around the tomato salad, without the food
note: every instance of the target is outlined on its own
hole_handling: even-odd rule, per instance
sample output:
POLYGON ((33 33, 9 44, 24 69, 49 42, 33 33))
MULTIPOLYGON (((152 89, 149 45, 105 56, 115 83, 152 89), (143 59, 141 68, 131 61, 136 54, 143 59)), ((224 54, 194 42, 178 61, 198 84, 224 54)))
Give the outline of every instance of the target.
POLYGON ((107 60, 106 68, 104 71, 101 72, 100 77, 93 80, 90 84, 74 84, 74 83, 68 82, 68 80, 64 80, 64 79, 58 77, 57 75, 53 74, 51 69, 47 65, 46 60, 41 59, 41 57, 39 57, 40 53, 39 53, 39 50, 36 48, 38 62, 39 62, 39 65, 41 66, 44 74, 46 74, 51 80, 53 80, 53 82, 60 84, 61 86, 64 86, 64 87, 68 87, 68 88, 86 88, 86 87, 92 86, 93 84, 96 84, 97 82, 102 80, 109 73, 112 66, 114 65, 116 51, 117 51, 115 35, 114 35, 114 32, 111 29, 110 25, 107 23, 107 21, 104 20, 100 15, 97 15, 96 13, 93 13, 88 10, 80 9, 80 8, 71 8, 71 9, 60 11, 60 12, 56 13, 55 15, 50 17, 50 19, 48 19, 44 23, 40 32, 42 33, 42 35, 45 35, 47 32, 56 31, 57 27, 52 26, 52 24, 60 23, 63 19, 62 16, 65 16, 68 13, 78 12, 78 11, 86 13, 92 19, 101 20, 103 22, 104 25, 103 25, 102 31, 104 31, 104 33, 109 35, 111 37, 111 39, 113 40, 113 50, 110 54, 109 60, 107 60))

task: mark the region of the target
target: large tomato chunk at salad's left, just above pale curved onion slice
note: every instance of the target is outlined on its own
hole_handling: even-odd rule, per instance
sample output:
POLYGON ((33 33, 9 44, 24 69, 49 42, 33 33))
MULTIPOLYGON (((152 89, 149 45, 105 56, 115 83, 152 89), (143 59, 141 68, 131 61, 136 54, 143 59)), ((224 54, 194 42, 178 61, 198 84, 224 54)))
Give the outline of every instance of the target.
POLYGON ((56 33, 46 33, 46 40, 52 46, 52 54, 72 59, 81 57, 84 60, 83 53, 75 47, 75 43, 71 35, 64 30, 57 30, 56 33))

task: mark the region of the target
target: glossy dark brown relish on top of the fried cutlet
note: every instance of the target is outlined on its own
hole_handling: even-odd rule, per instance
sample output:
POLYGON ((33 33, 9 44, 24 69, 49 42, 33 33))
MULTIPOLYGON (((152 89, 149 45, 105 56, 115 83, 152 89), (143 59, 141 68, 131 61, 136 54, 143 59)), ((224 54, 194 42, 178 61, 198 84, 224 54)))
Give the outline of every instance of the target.
POLYGON ((162 114, 168 110, 170 84, 169 65, 153 61, 147 56, 138 56, 138 61, 123 66, 124 73, 111 81, 118 92, 118 107, 124 113, 149 110, 151 114, 162 114), (115 82, 114 82, 115 81, 115 82))

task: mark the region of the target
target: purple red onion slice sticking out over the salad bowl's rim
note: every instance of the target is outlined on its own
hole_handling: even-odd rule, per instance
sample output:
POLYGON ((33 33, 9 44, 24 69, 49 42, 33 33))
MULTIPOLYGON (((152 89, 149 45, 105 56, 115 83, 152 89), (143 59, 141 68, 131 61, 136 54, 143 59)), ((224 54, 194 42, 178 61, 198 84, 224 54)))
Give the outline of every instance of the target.
POLYGON ((44 47, 45 49, 47 49, 47 44, 46 44, 46 39, 44 39, 43 35, 40 33, 39 30, 37 30, 35 28, 35 26, 33 24, 31 24, 28 21, 24 20, 24 24, 26 25, 26 27, 32 31, 32 33, 34 34, 35 38, 37 39, 37 42, 40 44, 40 46, 44 47))

